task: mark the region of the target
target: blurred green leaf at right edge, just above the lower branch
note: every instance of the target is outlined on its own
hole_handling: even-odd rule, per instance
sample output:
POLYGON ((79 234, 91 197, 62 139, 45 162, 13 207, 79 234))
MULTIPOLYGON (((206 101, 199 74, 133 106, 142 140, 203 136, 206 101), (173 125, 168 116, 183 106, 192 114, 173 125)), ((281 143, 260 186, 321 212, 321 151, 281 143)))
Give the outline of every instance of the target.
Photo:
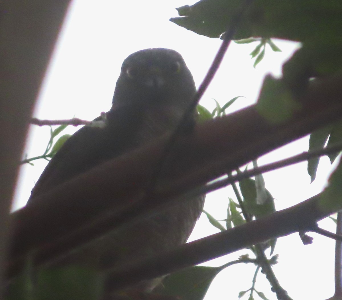
POLYGON ((330 175, 328 186, 321 193, 319 204, 324 209, 338 211, 342 208, 342 163, 330 175))

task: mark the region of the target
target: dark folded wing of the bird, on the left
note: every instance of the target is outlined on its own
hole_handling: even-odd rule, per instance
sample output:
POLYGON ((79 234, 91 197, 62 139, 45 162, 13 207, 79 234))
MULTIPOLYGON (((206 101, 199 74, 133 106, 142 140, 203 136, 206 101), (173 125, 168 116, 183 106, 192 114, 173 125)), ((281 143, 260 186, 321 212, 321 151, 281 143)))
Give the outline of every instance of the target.
POLYGON ((84 126, 79 129, 44 169, 28 203, 68 179, 135 147, 134 133, 140 115, 137 108, 120 107, 106 113, 105 127, 84 126))

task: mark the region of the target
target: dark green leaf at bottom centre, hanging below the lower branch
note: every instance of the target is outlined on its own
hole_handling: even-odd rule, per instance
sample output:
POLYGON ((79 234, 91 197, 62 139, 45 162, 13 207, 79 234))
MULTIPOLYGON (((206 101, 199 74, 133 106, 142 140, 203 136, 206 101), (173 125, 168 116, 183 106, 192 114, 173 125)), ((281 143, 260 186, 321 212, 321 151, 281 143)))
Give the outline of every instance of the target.
POLYGON ((201 300, 220 271, 214 267, 190 267, 165 277, 154 291, 182 300, 201 300))

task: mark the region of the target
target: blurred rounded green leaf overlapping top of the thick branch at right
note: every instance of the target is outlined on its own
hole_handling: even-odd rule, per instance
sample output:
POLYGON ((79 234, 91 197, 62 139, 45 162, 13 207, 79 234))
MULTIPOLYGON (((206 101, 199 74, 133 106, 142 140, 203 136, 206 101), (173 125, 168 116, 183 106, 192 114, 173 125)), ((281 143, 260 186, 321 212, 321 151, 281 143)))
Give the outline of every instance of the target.
POLYGON ((281 81, 268 75, 264 79, 255 108, 271 124, 289 120, 302 105, 292 98, 292 93, 281 81))

